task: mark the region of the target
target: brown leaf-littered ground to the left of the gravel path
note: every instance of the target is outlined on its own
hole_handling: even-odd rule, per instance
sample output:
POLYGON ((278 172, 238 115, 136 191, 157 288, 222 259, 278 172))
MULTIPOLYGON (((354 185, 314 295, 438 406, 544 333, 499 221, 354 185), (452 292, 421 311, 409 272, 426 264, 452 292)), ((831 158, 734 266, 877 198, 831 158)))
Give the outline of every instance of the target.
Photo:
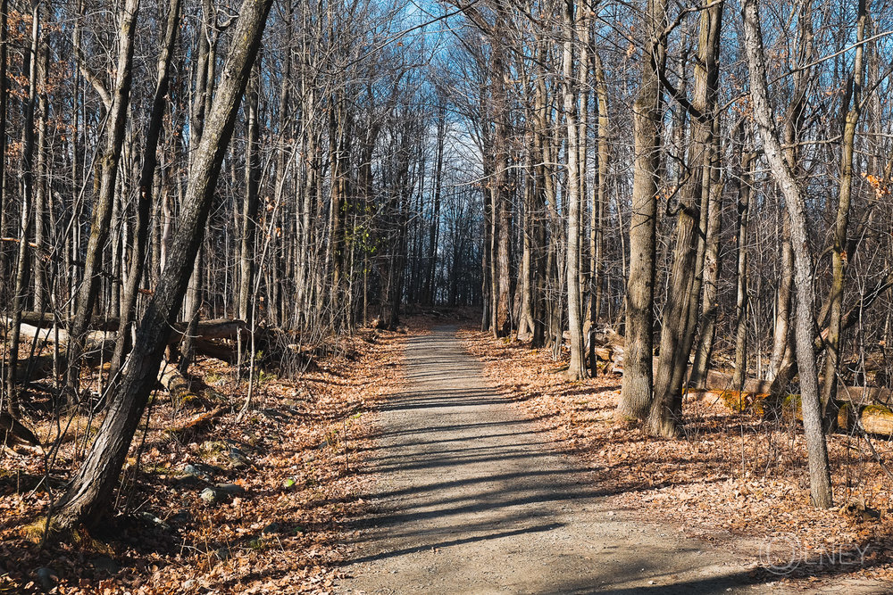
POLYGON ((339 524, 364 506, 355 453, 401 386, 405 338, 363 329, 327 342, 295 380, 261 373, 240 423, 246 380, 198 362, 194 401, 173 407, 160 392, 150 404, 116 502, 125 512, 73 543, 41 547, 39 519, 101 419, 36 414, 45 452, 0 451, 0 594, 330 592, 339 524))

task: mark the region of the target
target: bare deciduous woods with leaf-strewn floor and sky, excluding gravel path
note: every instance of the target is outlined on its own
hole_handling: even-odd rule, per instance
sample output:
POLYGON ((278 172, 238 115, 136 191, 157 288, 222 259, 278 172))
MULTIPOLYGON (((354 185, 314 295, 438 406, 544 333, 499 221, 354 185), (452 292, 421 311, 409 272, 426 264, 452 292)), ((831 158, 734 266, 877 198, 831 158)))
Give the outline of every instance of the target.
POLYGON ((769 477, 747 426, 889 572, 891 75, 889 0, 0 0, 0 592, 336 588, 449 324, 527 414, 667 449, 605 482, 707 427, 769 477), (286 570, 233 561, 280 525, 286 570))

